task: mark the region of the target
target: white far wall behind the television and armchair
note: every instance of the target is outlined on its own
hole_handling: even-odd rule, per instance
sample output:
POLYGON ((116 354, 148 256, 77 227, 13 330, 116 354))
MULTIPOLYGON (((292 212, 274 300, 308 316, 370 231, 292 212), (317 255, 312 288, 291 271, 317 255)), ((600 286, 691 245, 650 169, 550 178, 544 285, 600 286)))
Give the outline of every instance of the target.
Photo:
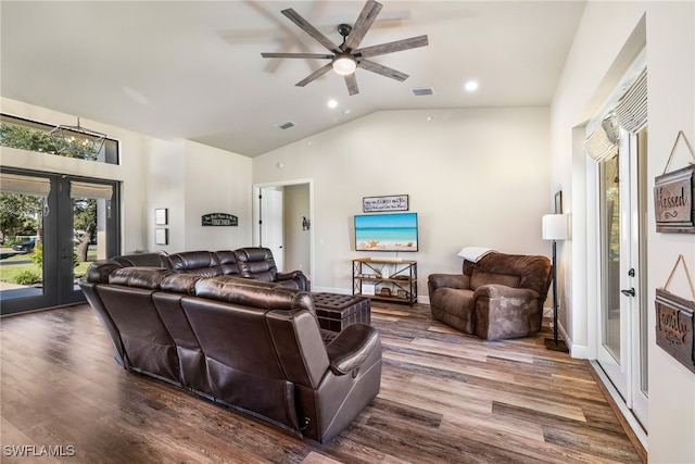
MULTIPOLYGON (((352 292, 353 215, 363 197, 408 195, 418 213, 418 294, 460 272, 464 246, 549 255, 547 108, 377 112, 253 160, 256 184, 314 179, 312 288, 352 292), (285 163, 285 168, 277 163, 285 163)), ((393 256, 395 253, 384 253, 393 256)))

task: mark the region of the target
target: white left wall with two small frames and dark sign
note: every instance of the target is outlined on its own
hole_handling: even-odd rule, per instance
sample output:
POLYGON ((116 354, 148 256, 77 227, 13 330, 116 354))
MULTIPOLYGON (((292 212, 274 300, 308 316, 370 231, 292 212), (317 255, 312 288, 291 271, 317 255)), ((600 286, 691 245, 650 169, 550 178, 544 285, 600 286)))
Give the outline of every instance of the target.
MULTIPOLYGON (((76 116, 1 98, 2 112, 47 124, 73 124, 76 116)), ((119 141, 121 164, 74 160, 0 148, 2 166, 119 180, 123 253, 141 250, 223 250, 251 244, 251 160, 185 140, 161 140, 81 118, 81 125, 119 141), (154 210, 168 209, 166 226, 154 210), (202 227, 206 213, 230 213, 238 227, 202 227), (166 227, 169 244, 155 244, 166 227)))

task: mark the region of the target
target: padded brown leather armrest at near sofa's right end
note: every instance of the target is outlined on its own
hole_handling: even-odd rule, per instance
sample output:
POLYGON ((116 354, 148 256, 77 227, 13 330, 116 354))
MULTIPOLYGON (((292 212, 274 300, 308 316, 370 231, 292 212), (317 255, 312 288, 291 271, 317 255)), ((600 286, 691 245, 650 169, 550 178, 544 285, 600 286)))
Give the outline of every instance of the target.
POLYGON ((359 367, 378 347, 377 329, 366 324, 349 325, 326 347, 330 369, 336 375, 349 374, 359 367))

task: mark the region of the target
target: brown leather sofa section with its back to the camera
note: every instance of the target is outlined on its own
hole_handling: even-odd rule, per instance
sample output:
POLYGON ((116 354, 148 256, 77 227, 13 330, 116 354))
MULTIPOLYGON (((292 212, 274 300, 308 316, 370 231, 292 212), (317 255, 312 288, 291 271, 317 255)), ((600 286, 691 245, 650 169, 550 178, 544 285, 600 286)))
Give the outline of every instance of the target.
POLYGON ((379 392, 377 330, 321 330, 311 293, 206 276, 205 267, 225 265, 213 254, 210 266, 186 273, 176 263, 190 266, 190 255, 166 256, 173 268, 155 264, 164 258, 155 254, 139 255, 136 266, 122 256, 89 267, 79 285, 116 360, 298 437, 330 440, 379 392))

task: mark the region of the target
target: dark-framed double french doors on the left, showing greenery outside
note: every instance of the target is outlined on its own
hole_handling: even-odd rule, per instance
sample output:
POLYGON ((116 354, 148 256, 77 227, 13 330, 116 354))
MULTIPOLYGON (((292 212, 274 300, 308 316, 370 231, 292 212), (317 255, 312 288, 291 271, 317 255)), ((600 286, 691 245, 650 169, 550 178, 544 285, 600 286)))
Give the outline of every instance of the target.
POLYGON ((3 170, 0 313, 84 301, 77 279, 118 253, 117 183, 3 170))

